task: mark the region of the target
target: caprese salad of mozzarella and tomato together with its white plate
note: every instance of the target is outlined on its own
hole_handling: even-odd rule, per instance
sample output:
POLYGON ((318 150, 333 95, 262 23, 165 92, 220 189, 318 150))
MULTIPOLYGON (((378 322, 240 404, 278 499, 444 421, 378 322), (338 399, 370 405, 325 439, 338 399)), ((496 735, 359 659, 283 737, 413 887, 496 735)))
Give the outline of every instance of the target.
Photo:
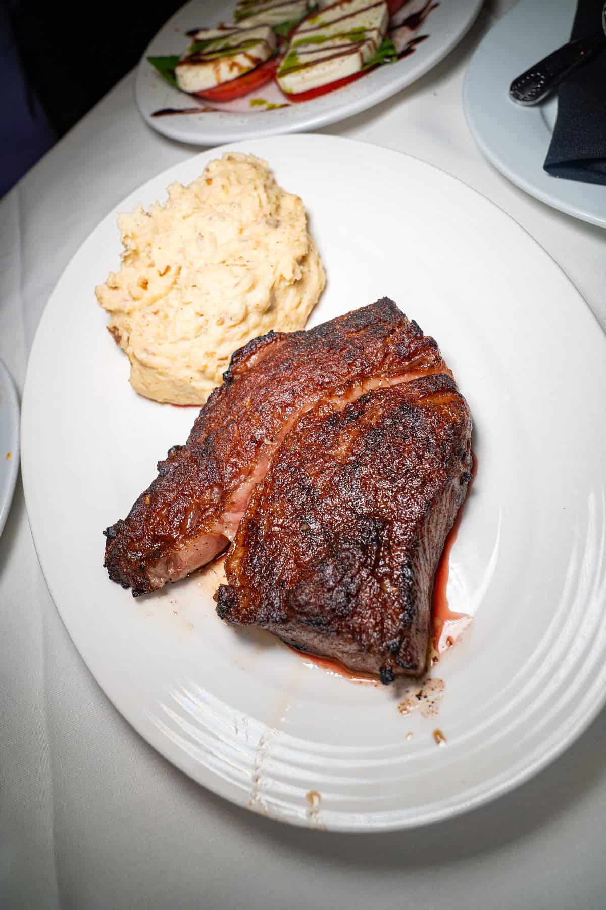
POLYGON ((144 120, 214 145, 326 126, 383 101, 458 44, 482 0, 185 4, 145 49, 144 120))

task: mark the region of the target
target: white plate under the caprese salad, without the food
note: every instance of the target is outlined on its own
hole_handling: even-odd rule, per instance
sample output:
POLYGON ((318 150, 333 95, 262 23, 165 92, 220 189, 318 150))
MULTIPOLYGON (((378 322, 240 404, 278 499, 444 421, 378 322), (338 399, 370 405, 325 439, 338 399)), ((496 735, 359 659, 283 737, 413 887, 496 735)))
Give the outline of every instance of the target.
MULTIPOLYGON (((407 0, 411 11, 421 8, 427 0, 407 0)), ((404 57, 390 66, 382 66, 351 86, 345 86, 329 95, 300 102, 278 110, 251 108, 250 97, 230 105, 217 106, 217 110, 194 115, 152 116, 163 108, 208 106, 201 99, 185 95, 170 86, 154 70, 148 56, 180 54, 187 46, 184 33, 204 25, 217 25, 229 21, 232 6, 221 0, 202 3, 191 0, 161 28, 145 49, 137 70, 135 96, 137 106, 146 123, 164 136, 182 142, 213 146, 218 142, 231 142, 249 136, 274 136, 294 133, 318 126, 327 126, 347 116, 359 114, 410 86, 415 79, 440 63, 462 36, 478 14, 482 0, 440 0, 428 15, 417 35, 429 35, 416 46, 411 56, 404 57)), ((285 98, 277 86, 263 86, 252 96, 261 96, 274 104, 284 104, 285 98)))

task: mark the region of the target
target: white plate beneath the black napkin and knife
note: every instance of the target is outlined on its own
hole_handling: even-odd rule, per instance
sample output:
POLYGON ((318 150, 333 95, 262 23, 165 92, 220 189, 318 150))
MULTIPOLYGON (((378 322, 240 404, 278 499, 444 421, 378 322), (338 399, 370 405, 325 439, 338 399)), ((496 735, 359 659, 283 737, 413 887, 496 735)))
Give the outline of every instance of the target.
POLYGON ((513 79, 570 40, 575 0, 522 0, 486 35, 463 85, 467 125, 482 154, 517 187, 568 215, 606 227, 606 186, 543 170, 557 113, 552 96, 533 107, 508 95, 513 79))

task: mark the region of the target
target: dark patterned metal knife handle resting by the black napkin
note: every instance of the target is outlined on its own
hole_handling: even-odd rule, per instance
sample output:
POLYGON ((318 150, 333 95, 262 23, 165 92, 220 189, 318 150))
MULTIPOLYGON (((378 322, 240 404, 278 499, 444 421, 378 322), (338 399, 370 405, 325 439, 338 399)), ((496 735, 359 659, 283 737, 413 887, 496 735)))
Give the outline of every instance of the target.
POLYGON ((509 87, 512 101, 519 105, 536 105, 570 74, 606 46, 604 35, 578 38, 546 56, 514 79, 509 87))

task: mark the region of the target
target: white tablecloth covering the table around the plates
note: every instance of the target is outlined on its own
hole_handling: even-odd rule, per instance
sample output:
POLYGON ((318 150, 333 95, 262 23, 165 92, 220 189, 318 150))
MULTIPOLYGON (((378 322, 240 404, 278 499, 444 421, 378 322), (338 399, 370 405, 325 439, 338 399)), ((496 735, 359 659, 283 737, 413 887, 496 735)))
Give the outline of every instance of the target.
MULTIPOLYGON (((606 328, 604 232, 513 187, 465 126, 465 68, 511 5, 493 0, 441 66, 327 132, 410 152, 478 189, 551 253, 606 328)), ((88 232, 199 151, 144 126, 133 88, 130 74, 0 204, 0 357, 19 389, 45 302, 88 232)), ((606 905, 606 713, 530 783, 448 823, 374 836, 273 823, 175 770, 104 697, 46 590, 20 482, 0 540, 0 649, 0 905, 606 905)))

